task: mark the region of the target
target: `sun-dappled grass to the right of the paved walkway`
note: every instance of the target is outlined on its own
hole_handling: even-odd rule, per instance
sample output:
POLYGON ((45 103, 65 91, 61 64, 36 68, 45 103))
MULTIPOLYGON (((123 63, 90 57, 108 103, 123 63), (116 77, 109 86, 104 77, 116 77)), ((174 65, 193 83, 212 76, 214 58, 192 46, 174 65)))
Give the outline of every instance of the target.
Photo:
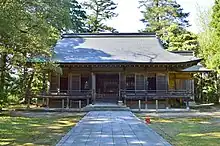
MULTIPOLYGON (((144 119, 142 115, 137 115, 144 119)), ((220 117, 151 118, 149 126, 174 146, 219 146, 220 117)))

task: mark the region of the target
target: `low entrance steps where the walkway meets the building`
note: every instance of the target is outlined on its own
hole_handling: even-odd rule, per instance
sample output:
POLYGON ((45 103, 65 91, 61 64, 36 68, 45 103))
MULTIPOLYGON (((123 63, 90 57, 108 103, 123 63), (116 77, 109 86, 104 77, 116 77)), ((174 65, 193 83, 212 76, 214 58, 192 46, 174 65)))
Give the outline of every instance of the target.
POLYGON ((129 107, 113 103, 90 104, 83 108, 83 111, 131 111, 129 107))

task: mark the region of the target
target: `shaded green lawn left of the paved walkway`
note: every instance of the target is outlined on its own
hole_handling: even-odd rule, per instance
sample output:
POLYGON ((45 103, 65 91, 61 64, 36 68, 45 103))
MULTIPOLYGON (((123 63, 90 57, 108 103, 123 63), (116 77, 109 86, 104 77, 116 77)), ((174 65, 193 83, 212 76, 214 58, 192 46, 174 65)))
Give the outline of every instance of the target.
MULTIPOLYGON (((73 114, 74 115, 74 114, 73 114)), ((82 116, 12 117, 0 113, 0 145, 55 145, 82 116)))

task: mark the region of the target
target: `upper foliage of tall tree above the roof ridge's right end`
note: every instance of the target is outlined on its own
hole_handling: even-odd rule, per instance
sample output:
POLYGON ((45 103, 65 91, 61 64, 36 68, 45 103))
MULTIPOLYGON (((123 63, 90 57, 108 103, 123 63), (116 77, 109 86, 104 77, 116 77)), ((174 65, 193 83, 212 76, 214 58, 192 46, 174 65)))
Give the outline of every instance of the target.
POLYGON ((140 0, 140 7, 143 8, 144 18, 142 21, 146 24, 147 32, 157 32, 159 36, 163 35, 170 25, 176 24, 179 27, 189 26, 189 13, 184 13, 176 0, 140 0))

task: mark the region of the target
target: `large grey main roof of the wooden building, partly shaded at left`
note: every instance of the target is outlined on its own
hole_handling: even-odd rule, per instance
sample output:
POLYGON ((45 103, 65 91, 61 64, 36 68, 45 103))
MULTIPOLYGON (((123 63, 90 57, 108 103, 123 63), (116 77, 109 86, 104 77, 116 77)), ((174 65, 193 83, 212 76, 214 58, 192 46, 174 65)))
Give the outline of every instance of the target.
POLYGON ((54 47, 58 63, 184 63, 199 61, 171 53, 153 33, 68 34, 54 47))

